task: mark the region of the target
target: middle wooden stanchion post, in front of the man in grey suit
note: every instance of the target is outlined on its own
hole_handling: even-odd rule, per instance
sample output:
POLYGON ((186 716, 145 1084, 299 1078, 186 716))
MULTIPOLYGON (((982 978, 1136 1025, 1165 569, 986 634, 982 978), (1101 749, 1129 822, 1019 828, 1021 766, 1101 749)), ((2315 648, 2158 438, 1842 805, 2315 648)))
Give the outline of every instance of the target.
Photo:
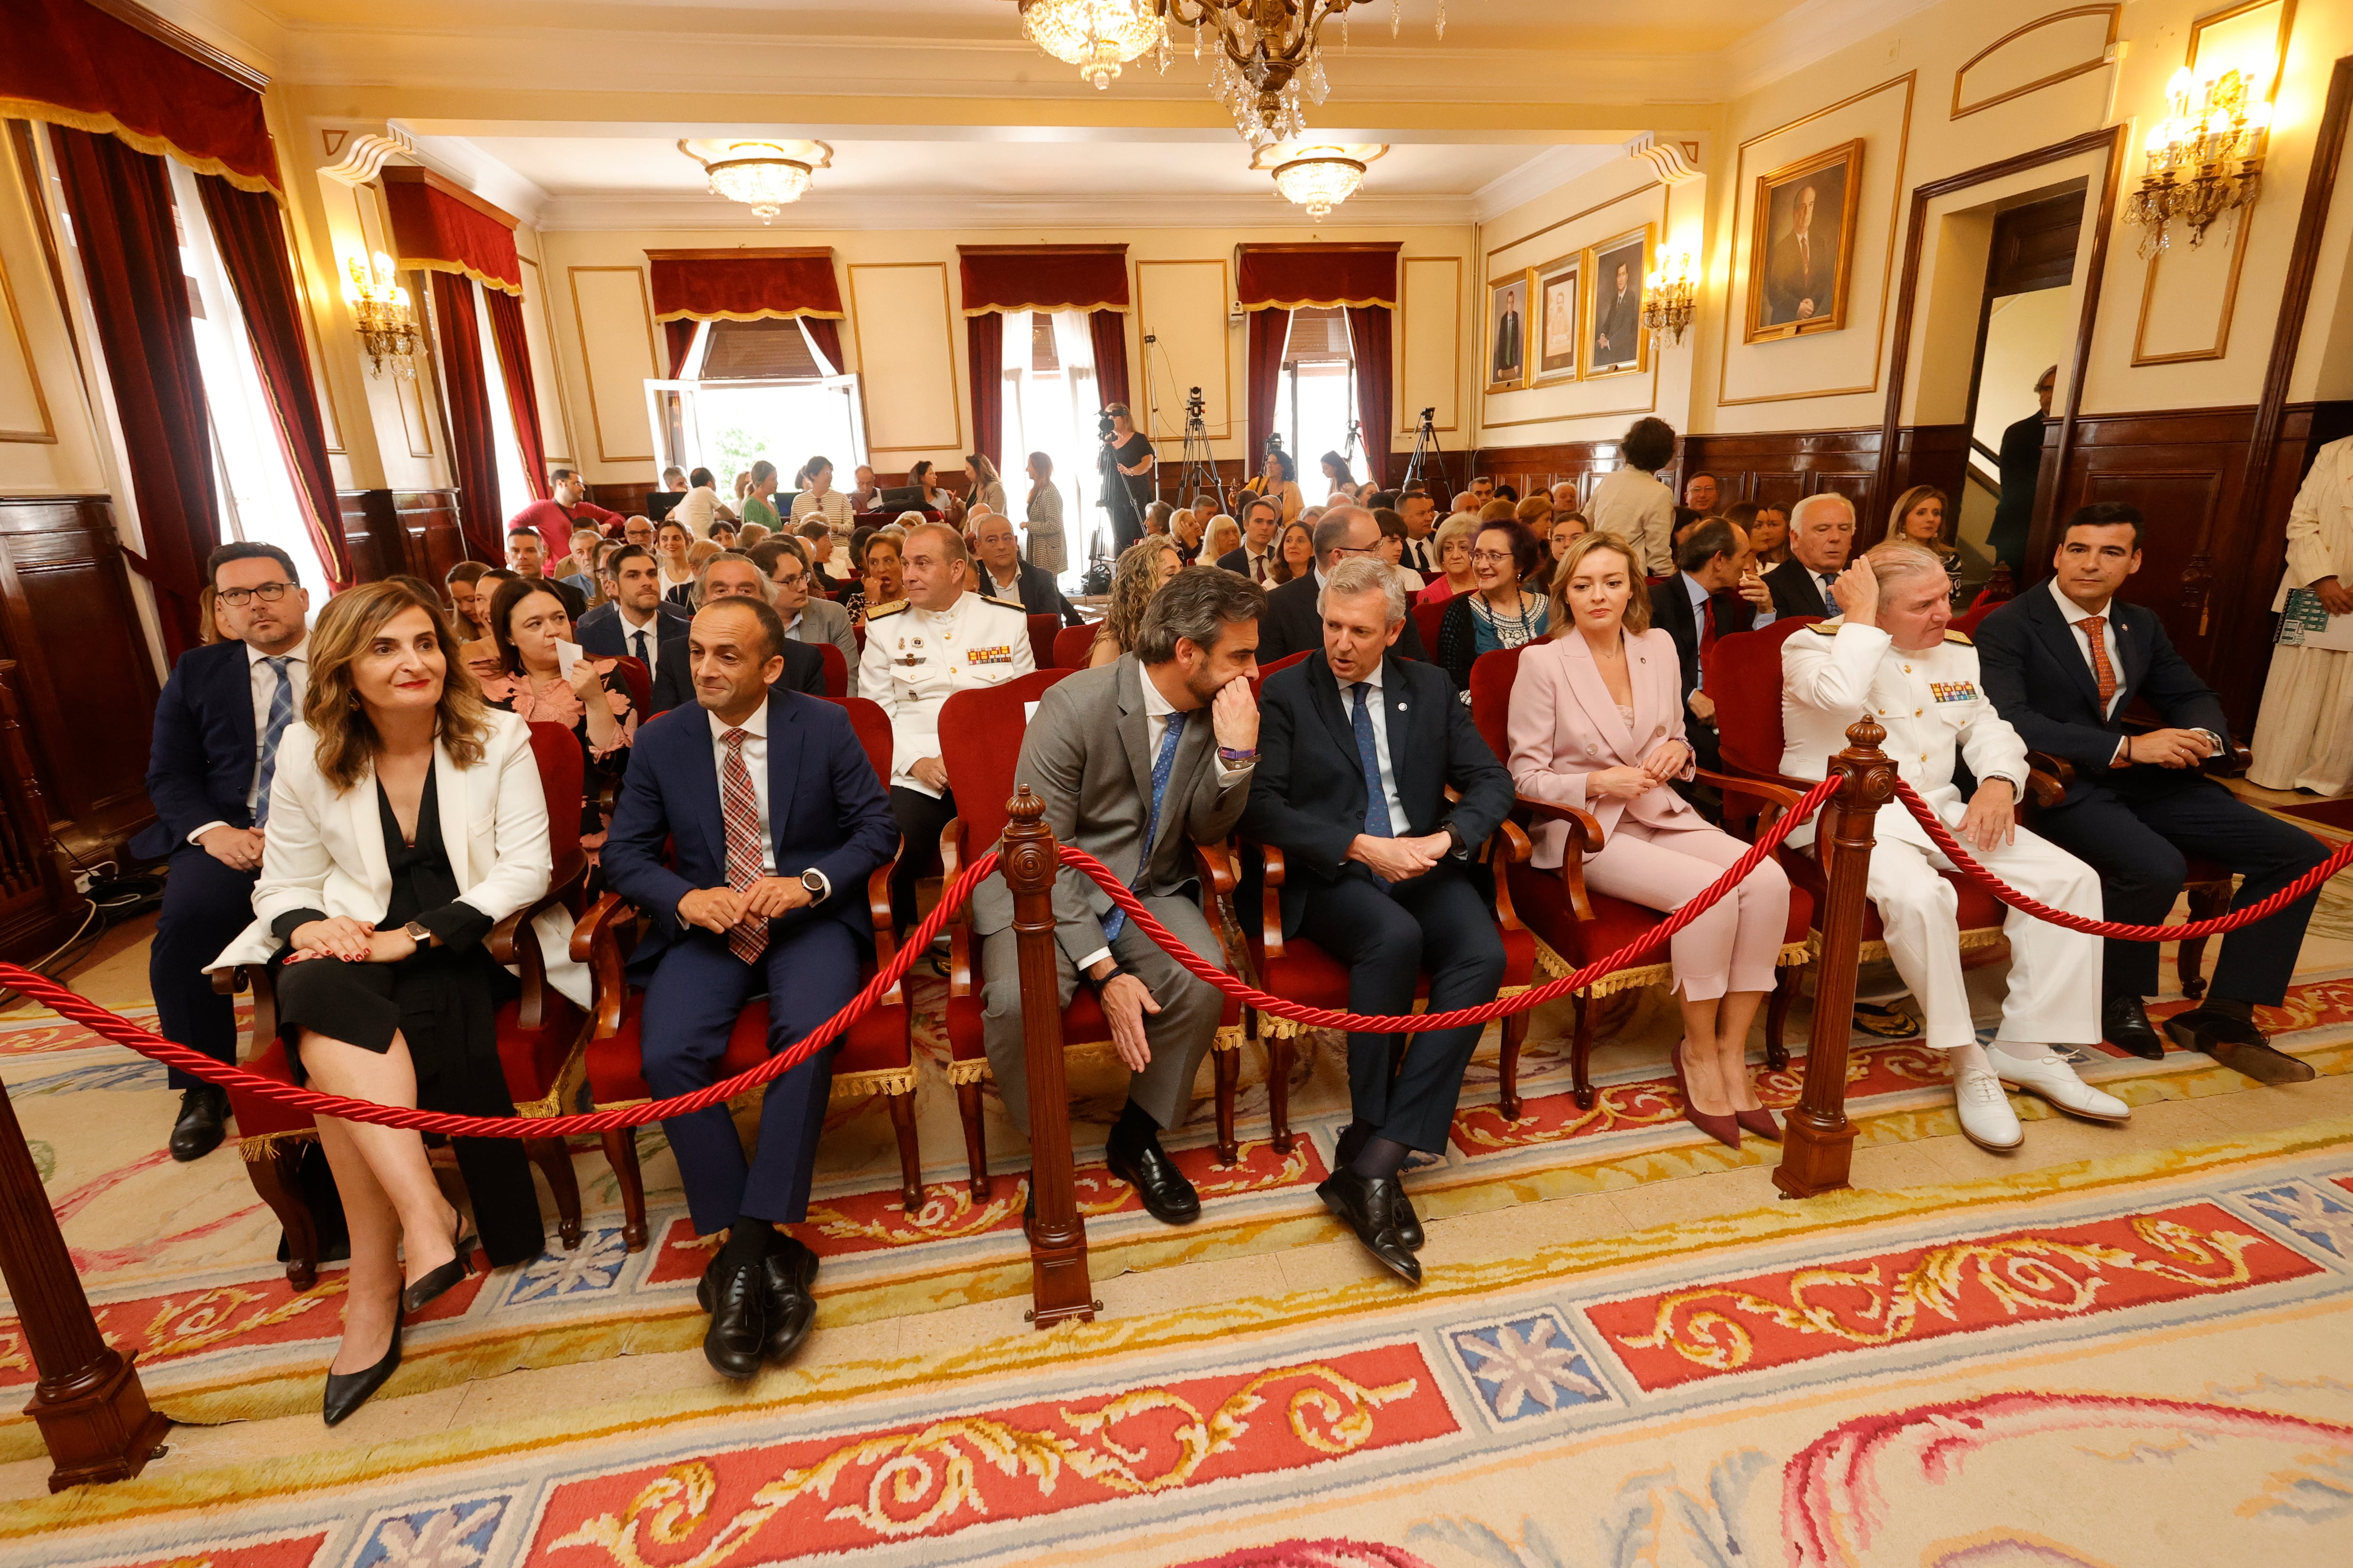
POLYGON ((1007 806, 998 870, 1014 896, 1014 936, 1021 943, 1021 1048, 1031 1081, 1031 1321, 1045 1328, 1066 1316, 1092 1321, 1094 1281, 1087 1276, 1087 1222, 1078 1215, 1071 1180, 1071 1088, 1061 1060, 1061 976, 1054 961, 1054 877, 1061 853, 1045 825, 1045 802, 1028 785, 1007 806))

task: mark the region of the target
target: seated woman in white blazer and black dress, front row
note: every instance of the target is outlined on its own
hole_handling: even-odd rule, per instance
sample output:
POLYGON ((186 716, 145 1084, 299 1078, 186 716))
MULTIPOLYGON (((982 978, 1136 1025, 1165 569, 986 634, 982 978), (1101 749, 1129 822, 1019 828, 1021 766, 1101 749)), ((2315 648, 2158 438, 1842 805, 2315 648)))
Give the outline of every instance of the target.
MULTIPOLYGON (((548 804, 529 724, 487 708, 452 646, 440 607, 398 581, 327 602, 304 717, 273 764, 256 919, 214 969, 275 966, 296 1081, 511 1117, 496 1006, 513 976, 482 938, 548 891, 548 804)), ((565 954, 569 919, 541 926, 544 952, 565 954)), ((551 980, 586 999, 584 976, 551 980)), ((334 1117, 318 1133, 351 1220, 344 1342, 327 1366, 334 1425, 393 1375, 402 1314, 459 1284, 475 1244, 416 1133, 334 1117)), ((459 1138, 456 1159, 489 1260, 536 1258, 522 1145, 459 1138)))

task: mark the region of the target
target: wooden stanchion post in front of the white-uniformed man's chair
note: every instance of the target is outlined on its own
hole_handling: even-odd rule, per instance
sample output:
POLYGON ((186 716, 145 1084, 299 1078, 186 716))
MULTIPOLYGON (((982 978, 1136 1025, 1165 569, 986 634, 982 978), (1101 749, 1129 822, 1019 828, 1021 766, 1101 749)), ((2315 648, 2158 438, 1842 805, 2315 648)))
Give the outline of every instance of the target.
POLYGON ((1821 961, 1814 969, 1814 1023, 1805 1044, 1805 1091, 1784 1117, 1781 1164, 1772 1185, 1809 1199, 1847 1185, 1854 1126, 1847 1121, 1847 1037, 1854 1030, 1854 969, 1864 947, 1871 825, 1897 795, 1897 764, 1880 750, 1887 731, 1864 719, 1847 729, 1847 750, 1831 757, 1842 783, 1824 806, 1814 853, 1828 863, 1821 907, 1821 961))

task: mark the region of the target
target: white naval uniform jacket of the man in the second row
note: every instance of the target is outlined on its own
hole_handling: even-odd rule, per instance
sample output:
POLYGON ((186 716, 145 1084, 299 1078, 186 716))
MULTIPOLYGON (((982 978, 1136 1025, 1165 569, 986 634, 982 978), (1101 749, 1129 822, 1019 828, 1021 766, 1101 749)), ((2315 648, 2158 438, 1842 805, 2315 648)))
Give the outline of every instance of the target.
POLYGON ((941 611, 906 599, 866 611, 859 696, 889 712, 889 783, 936 797, 911 771, 939 755, 939 710, 958 691, 998 686, 1038 668, 1028 646, 1028 611, 969 588, 941 611))

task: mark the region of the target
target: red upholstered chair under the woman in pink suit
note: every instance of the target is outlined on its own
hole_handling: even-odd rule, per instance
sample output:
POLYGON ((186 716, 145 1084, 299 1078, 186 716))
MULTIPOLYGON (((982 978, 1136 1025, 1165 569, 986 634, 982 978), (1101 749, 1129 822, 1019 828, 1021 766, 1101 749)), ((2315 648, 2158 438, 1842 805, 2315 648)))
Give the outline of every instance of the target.
MULTIPOLYGON (((1499 654, 1480 654, 1471 665, 1471 722, 1478 724, 1480 736, 1485 736, 1487 745, 1494 748, 1494 755, 1506 759, 1506 764, 1511 759, 1511 686, 1520 675, 1522 651, 1525 649, 1504 649, 1499 654)), ((1708 679, 1713 679, 1713 665, 1708 679)), ((1725 705, 1729 705, 1727 698, 1718 698, 1718 710, 1725 705)), ((1779 715, 1779 708, 1774 708, 1774 712, 1779 715)), ((1798 802, 1798 797, 1786 788, 1727 778, 1722 773, 1711 773, 1708 769, 1699 769, 1699 783, 1713 785, 1725 795, 1727 818, 1732 818, 1737 804, 1744 802, 1748 806, 1748 816, 1758 816, 1769 823, 1772 816, 1798 802)), ((1527 929, 1537 938, 1537 971, 1546 980, 1558 980, 1560 976, 1584 969, 1593 959, 1609 957, 1626 943, 1666 922, 1666 914, 1659 910, 1649 910, 1626 898, 1586 891, 1584 858, 1598 853, 1602 846, 1602 827, 1588 811, 1555 806, 1525 795, 1520 797, 1520 809, 1532 818, 1569 825, 1567 846, 1562 849, 1558 870, 1537 870, 1522 856, 1513 860, 1506 875, 1520 919, 1527 922, 1527 929)), ((1788 865, 1795 856, 1777 858, 1795 884, 1798 872, 1788 865)), ((1781 1025, 1788 1018, 1788 1004, 1798 997, 1798 976, 1812 957, 1812 947, 1805 938, 1812 914, 1812 898, 1800 886, 1791 886, 1788 929, 1781 933, 1781 966, 1774 976, 1772 1001, 1765 1009, 1765 1060, 1774 1067, 1788 1065, 1788 1046, 1781 1041, 1781 1025)), ((1600 1098, 1600 1091, 1593 1088, 1591 1074, 1593 1027, 1588 1006, 1598 997, 1633 990, 1638 985, 1664 985, 1673 990, 1675 966, 1666 952, 1652 954, 1647 964, 1607 973, 1569 997, 1577 1006, 1577 1032, 1569 1039, 1569 1074, 1577 1088, 1577 1103, 1584 1110, 1593 1110, 1593 1103, 1600 1098)), ((1520 1114, 1518 1074, 1518 1048, 1515 1041, 1506 1039, 1501 1100, 1506 1117, 1520 1114)))

